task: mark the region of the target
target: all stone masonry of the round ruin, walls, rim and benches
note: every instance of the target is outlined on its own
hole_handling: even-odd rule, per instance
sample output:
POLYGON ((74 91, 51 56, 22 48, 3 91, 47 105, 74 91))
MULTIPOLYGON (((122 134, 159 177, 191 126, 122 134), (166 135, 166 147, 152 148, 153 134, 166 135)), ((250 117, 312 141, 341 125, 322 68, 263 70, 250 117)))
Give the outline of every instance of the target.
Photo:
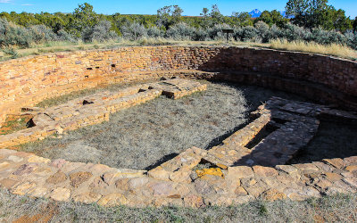
MULTIPOLYGON (((102 84, 173 76, 206 78, 273 87, 332 103, 325 106, 271 98, 252 113, 245 128, 222 145, 210 150, 187 149, 149 171, 50 161, 31 153, 0 149, 0 185, 12 194, 104 206, 204 207, 259 197, 299 201, 357 192, 357 157, 284 165, 309 143, 321 117, 357 120, 353 112, 333 108, 337 105, 357 110, 357 62, 269 49, 153 46, 22 58, 1 62, 0 73, 0 125, 6 115, 18 114, 24 107, 35 114, 32 129, 21 130, 21 136, 14 133, 10 140, 6 137, 13 135, 0 138, 4 140, 0 148, 108 120, 109 113, 157 95, 174 99, 185 95, 172 85, 165 90, 156 83, 116 94, 87 96, 46 112, 30 108, 46 98, 102 84), (123 99, 129 98, 133 101, 123 104, 123 99), (78 105, 83 112, 71 110, 78 105), (34 129, 38 130, 36 134, 32 134, 34 129), (267 135, 253 143, 263 131, 267 135)), ((186 82, 176 81, 176 87, 186 82)), ((204 88, 193 85, 185 91, 191 94, 204 88)))

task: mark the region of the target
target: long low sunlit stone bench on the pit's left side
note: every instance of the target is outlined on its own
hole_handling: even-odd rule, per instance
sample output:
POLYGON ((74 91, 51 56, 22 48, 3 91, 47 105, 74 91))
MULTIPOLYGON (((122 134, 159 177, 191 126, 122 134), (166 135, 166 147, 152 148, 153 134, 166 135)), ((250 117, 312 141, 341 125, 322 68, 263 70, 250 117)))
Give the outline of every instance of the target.
POLYGON ((12 134, 0 136, 0 148, 21 145, 64 131, 95 125, 110 119, 110 113, 145 103, 159 95, 178 99, 203 91, 207 85, 197 81, 174 78, 151 84, 127 87, 118 92, 103 92, 85 96, 47 109, 23 108, 32 114, 29 126, 12 134))

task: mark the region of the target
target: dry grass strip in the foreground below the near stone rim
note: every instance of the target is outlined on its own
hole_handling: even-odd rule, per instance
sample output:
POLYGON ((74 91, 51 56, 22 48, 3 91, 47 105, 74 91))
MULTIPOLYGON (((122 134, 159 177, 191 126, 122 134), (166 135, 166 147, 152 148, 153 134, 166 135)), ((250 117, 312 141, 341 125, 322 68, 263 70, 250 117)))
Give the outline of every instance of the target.
POLYGON ((103 208, 54 202, 0 189, 0 221, 12 222, 355 222, 357 194, 336 194, 303 202, 256 200, 230 207, 103 208))

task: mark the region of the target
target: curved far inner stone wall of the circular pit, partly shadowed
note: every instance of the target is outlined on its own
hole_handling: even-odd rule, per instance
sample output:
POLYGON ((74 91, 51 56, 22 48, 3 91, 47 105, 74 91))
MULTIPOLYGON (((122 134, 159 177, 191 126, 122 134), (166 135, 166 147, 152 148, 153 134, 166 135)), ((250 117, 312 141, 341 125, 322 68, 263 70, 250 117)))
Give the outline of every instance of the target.
MULTIPOLYGON (((268 73, 335 90, 345 99, 345 107, 349 107, 349 102, 357 102, 357 62, 258 48, 137 46, 0 62, 0 123, 6 114, 19 111, 21 106, 32 106, 49 97, 103 83, 159 78, 177 70, 268 73)), ((262 81, 258 78, 256 82, 264 84, 262 81)))

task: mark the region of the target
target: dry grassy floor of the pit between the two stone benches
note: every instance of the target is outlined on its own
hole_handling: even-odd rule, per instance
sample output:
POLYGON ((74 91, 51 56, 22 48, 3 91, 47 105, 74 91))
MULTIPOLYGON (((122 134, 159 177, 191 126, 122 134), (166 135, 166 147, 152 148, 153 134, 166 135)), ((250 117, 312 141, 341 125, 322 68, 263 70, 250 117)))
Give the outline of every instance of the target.
POLYGON ((112 114, 109 122, 22 145, 21 151, 50 159, 149 169, 191 146, 204 149, 220 142, 272 95, 292 97, 262 87, 209 84, 202 93, 179 100, 162 96, 112 114))

